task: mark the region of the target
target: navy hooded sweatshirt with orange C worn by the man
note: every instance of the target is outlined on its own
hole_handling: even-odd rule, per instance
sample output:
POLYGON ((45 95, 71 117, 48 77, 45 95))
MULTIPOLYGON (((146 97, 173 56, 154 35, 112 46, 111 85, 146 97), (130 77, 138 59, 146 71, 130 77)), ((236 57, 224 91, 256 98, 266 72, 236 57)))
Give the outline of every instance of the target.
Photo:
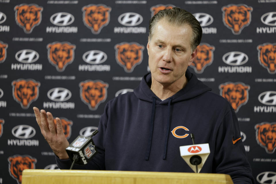
MULTIPOLYGON (((110 100, 93 138, 99 153, 75 169, 191 173, 179 146, 191 145, 193 133, 196 144, 210 146, 201 173, 224 173, 234 183, 254 183, 242 141, 232 141, 241 137, 235 111, 189 70, 186 77, 186 87, 163 101, 150 89, 151 74, 134 92, 110 100), (179 126, 186 129, 172 132, 179 126)), ((71 162, 57 158, 57 165, 68 169, 71 162)))

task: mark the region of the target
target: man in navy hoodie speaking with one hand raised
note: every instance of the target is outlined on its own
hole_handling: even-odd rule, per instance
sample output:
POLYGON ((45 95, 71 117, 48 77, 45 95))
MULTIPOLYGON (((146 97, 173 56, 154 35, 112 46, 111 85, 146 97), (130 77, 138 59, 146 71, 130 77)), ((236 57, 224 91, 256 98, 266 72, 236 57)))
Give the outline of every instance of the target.
MULTIPOLYGON (((93 137, 97 154, 75 169, 193 172, 179 153, 190 145, 209 143, 201 173, 229 174, 234 183, 254 183, 235 111, 220 95, 187 70, 197 54, 202 28, 180 9, 159 11, 150 20, 149 67, 139 87, 110 100, 93 137)), ((70 168, 69 146, 56 118, 34 107, 41 133, 61 169, 70 168)))

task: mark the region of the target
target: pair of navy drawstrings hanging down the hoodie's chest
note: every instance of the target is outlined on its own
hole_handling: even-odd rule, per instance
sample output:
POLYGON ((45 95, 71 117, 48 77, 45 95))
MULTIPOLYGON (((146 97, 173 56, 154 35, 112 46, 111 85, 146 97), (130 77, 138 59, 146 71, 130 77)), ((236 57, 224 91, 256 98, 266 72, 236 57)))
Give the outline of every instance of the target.
MULTIPOLYGON (((170 104, 173 98, 169 99, 168 102, 168 118, 167 118, 167 132, 165 137, 165 144, 164 144, 164 153, 163 153, 163 160, 167 158, 167 148, 168 148, 168 137, 170 133, 170 104)), ((156 98, 152 97, 152 116, 150 120, 150 137, 147 145, 147 152, 145 156, 145 160, 149 160, 150 157, 150 149, 152 147, 152 135, 153 135, 153 127, 154 127, 154 118, 155 118, 155 106, 156 106, 156 98)))

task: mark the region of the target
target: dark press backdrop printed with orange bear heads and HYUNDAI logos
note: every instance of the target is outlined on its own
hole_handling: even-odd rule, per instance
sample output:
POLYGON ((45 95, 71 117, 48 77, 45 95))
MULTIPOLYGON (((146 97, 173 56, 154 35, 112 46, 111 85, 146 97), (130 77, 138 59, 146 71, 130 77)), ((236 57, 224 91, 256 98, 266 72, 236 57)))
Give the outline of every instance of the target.
POLYGON ((148 21, 175 6, 203 29, 189 70, 235 109, 256 182, 276 183, 276 0, 0 0, 0 184, 57 169, 32 107, 60 117, 69 142, 90 135, 150 72, 148 21))

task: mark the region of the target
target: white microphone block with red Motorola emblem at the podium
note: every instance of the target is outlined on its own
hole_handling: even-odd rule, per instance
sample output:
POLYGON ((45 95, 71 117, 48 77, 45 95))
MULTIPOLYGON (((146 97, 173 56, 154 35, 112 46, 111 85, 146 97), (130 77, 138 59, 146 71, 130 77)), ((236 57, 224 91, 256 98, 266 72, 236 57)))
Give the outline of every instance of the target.
POLYGON ((180 155, 190 168, 199 173, 210 154, 209 144, 195 144, 194 135, 191 134, 193 145, 180 146, 180 155))

